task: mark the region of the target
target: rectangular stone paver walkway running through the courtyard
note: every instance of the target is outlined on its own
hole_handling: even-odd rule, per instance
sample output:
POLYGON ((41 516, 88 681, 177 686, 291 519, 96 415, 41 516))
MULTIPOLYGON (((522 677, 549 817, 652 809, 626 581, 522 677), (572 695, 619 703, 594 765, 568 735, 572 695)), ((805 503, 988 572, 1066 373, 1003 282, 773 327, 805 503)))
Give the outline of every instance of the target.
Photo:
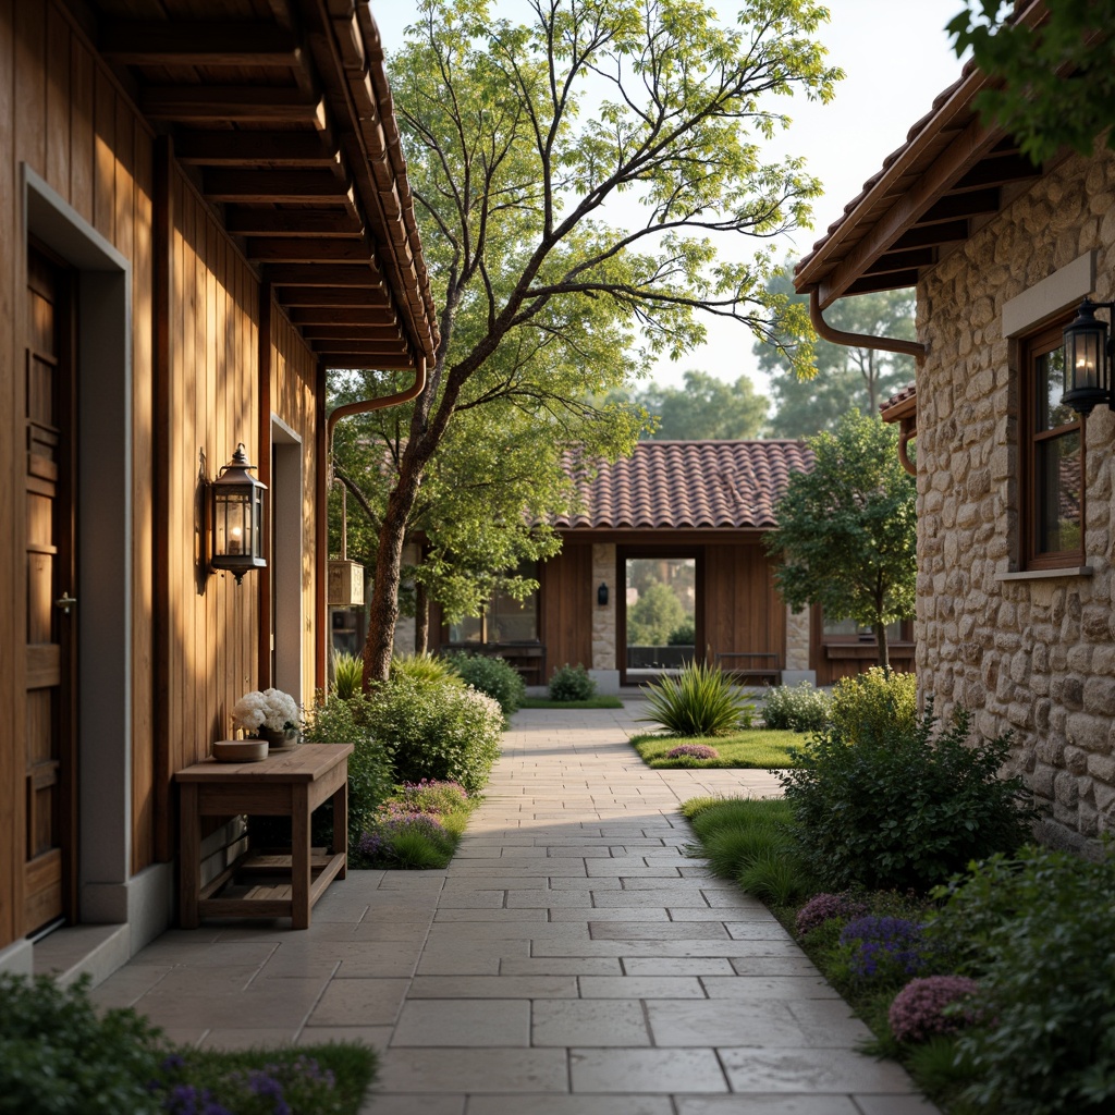
POLYGON ((312 928, 173 931, 95 992, 178 1040, 365 1040, 367 1115, 930 1115, 756 901, 687 859, 623 711, 524 711, 445 872, 352 872, 312 928))

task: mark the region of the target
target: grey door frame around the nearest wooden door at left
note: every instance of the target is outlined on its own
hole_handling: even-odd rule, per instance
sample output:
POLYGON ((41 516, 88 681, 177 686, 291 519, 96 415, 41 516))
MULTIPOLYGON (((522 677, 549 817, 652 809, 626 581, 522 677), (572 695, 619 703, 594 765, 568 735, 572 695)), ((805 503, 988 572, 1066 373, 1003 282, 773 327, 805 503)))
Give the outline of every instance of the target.
POLYGON ((128 922, 135 906, 127 885, 133 814, 132 264, 26 163, 21 174, 25 253, 33 237, 74 268, 80 307, 76 425, 83 435, 77 447, 72 591, 80 609, 81 855, 75 920, 128 922))

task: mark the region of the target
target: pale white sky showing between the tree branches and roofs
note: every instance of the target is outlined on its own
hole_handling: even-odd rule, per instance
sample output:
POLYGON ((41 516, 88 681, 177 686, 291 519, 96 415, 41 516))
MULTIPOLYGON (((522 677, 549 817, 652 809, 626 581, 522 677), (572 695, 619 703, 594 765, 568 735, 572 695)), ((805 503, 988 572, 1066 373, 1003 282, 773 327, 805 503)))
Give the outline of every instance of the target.
MULTIPOLYGON (((726 18, 738 0, 716 0, 726 18)), ((522 0, 501 0, 501 13, 515 17, 522 0)), ((827 105, 804 97, 779 99, 778 108, 793 118, 777 140, 779 155, 803 155, 825 193, 814 202, 812 230, 787 237, 783 254, 801 259, 815 240, 860 193, 883 159, 905 142, 906 132, 932 107, 933 98, 960 75, 944 25, 963 0, 828 0, 831 20, 818 32, 828 60, 845 77, 827 105)), ((403 29, 413 21, 408 0, 371 0, 371 9, 390 52, 401 43, 403 29)), ((709 318, 708 339, 678 362, 660 361, 652 379, 659 386, 680 386, 685 371, 697 368, 734 382, 748 376, 760 394, 766 377, 752 355, 754 338, 737 322, 709 318)))

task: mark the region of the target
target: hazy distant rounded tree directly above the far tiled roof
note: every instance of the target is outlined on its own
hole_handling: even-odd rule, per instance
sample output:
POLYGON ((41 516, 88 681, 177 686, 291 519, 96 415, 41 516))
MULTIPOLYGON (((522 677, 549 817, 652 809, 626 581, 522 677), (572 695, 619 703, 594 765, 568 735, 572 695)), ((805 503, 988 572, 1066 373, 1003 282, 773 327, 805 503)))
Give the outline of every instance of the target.
POLYGON ((632 395, 658 426, 643 438, 694 440, 697 438, 758 437, 766 419, 767 403, 755 385, 740 376, 735 384, 707 371, 687 371, 685 387, 650 386, 632 395))

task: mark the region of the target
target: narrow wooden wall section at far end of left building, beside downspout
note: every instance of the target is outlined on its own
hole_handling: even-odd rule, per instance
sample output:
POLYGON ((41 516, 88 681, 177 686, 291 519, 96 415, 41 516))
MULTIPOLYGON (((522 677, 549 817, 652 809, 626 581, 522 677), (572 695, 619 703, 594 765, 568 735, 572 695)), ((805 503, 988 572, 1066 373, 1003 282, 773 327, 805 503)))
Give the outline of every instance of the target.
MULTIPOLYGON (((317 361, 277 302, 271 304, 271 409, 302 438, 302 692, 314 689, 317 602, 317 361)), ((269 450, 270 452, 270 450, 269 450)))

